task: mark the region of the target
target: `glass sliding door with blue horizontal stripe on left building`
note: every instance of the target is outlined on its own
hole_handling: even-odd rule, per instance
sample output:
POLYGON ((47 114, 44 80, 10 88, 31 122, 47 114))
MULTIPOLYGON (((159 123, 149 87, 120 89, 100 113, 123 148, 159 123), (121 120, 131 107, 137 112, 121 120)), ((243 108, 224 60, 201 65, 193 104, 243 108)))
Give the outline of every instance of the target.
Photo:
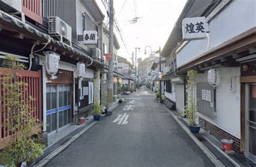
POLYGON ((49 135, 71 124, 71 85, 46 85, 46 130, 49 135))

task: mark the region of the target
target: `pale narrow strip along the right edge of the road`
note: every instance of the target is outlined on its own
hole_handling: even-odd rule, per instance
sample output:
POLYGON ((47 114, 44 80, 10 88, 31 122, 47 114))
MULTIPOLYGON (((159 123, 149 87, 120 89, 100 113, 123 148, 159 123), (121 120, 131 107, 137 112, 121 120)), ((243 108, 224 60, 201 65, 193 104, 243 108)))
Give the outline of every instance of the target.
MULTIPOLYGON (((163 105, 163 104, 162 104, 163 105)), ((191 139, 197 144, 197 146, 207 155, 208 158, 211 159, 211 161, 216 166, 224 166, 223 163, 219 161, 217 157, 215 157, 212 152, 202 144, 196 136, 190 130, 178 119, 177 115, 173 114, 165 105, 163 105, 165 110, 171 114, 171 116, 178 122, 178 124, 185 130, 185 132, 191 137, 191 139)))

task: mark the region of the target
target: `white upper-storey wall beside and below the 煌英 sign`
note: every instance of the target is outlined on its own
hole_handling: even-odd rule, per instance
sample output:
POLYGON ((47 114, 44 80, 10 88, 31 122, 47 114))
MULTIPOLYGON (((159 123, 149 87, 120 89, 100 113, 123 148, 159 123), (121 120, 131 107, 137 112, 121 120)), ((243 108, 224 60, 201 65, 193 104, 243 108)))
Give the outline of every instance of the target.
POLYGON ((207 41, 189 41, 177 53, 177 67, 182 66, 188 61, 195 59, 200 54, 205 53, 221 43, 247 31, 256 26, 256 1, 254 0, 234 0, 226 6, 209 23, 209 46, 207 41))

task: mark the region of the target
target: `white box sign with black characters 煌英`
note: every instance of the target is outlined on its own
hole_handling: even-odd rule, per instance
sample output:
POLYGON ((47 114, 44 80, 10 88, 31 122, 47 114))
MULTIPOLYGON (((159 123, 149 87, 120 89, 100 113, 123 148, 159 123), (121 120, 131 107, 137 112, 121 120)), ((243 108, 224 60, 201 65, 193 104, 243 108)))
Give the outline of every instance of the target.
POLYGON ((206 38, 208 23, 205 17, 191 17, 182 20, 182 35, 184 40, 197 40, 206 38))

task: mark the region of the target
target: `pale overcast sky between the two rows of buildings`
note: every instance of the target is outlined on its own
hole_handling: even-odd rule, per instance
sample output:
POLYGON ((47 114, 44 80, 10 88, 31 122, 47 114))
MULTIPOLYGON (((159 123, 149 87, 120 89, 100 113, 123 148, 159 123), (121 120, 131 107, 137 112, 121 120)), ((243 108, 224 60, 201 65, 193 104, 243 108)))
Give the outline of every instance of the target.
MULTIPOLYGON (((138 57, 146 57, 144 55, 145 46, 150 45, 152 52, 163 49, 167 38, 169 37, 179 14, 181 13, 186 0, 113 0, 114 1, 114 18, 117 20, 124 42, 120 39, 120 35, 114 28, 114 33, 118 37, 121 48, 118 55, 131 60, 131 53, 135 52, 135 47, 140 47, 138 57), (122 9, 123 6, 123 9, 122 9), (132 24, 130 20, 135 17, 137 23, 132 24), (126 52, 124 43, 126 45, 126 52)), ((106 10, 102 0, 96 0, 100 9, 105 14, 104 23, 108 23, 106 10)), ((150 48, 147 47, 148 52, 150 48)))

